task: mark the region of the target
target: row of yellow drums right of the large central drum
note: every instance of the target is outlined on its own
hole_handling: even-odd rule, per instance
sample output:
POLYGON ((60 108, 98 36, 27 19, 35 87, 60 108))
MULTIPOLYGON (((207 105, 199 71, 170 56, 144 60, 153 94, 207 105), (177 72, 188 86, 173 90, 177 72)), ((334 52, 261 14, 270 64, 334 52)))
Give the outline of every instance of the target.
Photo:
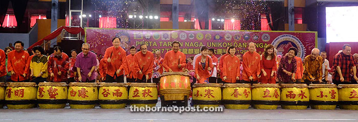
POLYGON ((194 84, 193 104, 226 109, 358 110, 358 85, 333 84, 194 84))

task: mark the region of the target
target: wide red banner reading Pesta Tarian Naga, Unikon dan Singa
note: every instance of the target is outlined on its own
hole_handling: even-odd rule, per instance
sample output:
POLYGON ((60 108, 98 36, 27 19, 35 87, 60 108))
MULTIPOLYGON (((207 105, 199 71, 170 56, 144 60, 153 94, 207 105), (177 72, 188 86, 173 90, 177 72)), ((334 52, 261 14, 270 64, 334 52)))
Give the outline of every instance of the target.
POLYGON ((104 55, 105 50, 113 46, 114 37, 121 38, 121 47, 129 54, 129 48, 147 44, 148 51, 160 51, 162 57, 171 50, 171 43, 177 40, 181 43, 180 51, 187 57, 200 53, 200 47, 206 45, 215 50, 220 56, 226 52, 227 46, 235 46, 236 54, 248 50, 248 43, 256 44, 259 54, 266 45, 272 44, 278 54, 285 54, 290 47, 298 49, 298 56, 304 58, 317 47, 317 32, 308 31, 228 31, 228 30, 135 30, 135 29, 102 29, 85 28, 85 42, 91 45, 91 50, 98 55, 104 55))

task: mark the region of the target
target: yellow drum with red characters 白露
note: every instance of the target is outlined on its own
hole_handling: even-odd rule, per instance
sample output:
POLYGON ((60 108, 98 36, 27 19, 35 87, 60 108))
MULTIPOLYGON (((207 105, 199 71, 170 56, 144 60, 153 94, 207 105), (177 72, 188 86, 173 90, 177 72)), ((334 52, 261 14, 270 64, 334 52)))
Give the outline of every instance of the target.
POLYGON ((68 101, 72 109, 95 108, 98 100, 96 83, 70 83, 68 101))

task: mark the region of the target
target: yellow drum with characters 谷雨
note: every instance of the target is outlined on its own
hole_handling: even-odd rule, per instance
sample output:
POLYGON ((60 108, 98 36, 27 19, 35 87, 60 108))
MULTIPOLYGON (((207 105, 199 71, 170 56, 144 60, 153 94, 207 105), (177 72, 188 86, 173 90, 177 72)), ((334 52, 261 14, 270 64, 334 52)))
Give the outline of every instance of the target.
POLYGON ((99 104, 103 109, 121 109, 128 101, 128 89, 125 83, 100 83, 99 104))

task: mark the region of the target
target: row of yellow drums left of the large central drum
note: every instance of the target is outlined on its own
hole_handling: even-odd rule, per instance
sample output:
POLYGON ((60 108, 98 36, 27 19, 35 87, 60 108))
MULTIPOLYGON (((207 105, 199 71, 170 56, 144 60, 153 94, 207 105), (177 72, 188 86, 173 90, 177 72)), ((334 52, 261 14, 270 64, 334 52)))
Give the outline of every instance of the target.
POLYGON ((158 102, 155 83, 0 83, 0 107, 29 109, 91 109, 100 104, 104 109, 131 105, 153 107, 158 102), (130 86, 128 92, 128 86, 130 86), (128 94, 129 93, 129 94, 128 94))

